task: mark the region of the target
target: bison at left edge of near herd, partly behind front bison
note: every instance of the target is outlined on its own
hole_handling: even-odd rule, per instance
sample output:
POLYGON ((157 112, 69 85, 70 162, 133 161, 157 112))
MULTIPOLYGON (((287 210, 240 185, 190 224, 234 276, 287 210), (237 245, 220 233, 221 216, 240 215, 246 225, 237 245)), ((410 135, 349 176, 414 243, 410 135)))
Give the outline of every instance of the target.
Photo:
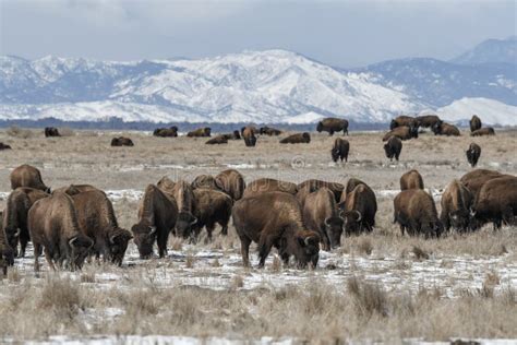
POLYGON ((14 254, 19 253, 20 258, 25 257, 25 249, 31 240, 27 226, 28 210, 36 201, 48 195, 39 189, 20 187, 8 197, 5 210, 3 210, 3 227, 0 231, 5 235, 9 246, 14 250, 14 254), (17 251, 19 242, 20 251, 17 251))

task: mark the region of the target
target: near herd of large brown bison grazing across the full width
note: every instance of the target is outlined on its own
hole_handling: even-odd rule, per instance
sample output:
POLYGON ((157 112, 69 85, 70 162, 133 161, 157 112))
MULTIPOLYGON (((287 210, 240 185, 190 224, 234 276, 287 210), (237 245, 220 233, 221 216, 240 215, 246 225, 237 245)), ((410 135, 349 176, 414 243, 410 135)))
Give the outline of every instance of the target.
MULTIPOLYGON (((131 230, 118 225, 106 193, 91 185, 71 185, 50 191, 39 170, 29 165, 14 169, 13 191, 2 212, 0 259, 13 264, 34 247, 34 270, 41 253, 51 269, 81 269, 88 257, 122 264, 130 240, 143 259, 167 255, 170 235, 195 242, 206 229, 211 241, 218 225, 228 234, 230 218, 241 242, 242 262, 250 265, 251 242, 257 243, 258 266, 273 247, 288 264, 316 266, 320 249, 341 246, 342 235, 375 228, 375 192, 357 178, 346 185, 317 179, 293 183, 260 178, 250 183, 227 169, 217 176, 201 175, 192 182, 161 178, 148 185, 131 230)), ((517 177, 476 169, 453 180, 441 199, 438 214, 422 176, 410 170, 400 177, 400 192, 393 201, 393 222, 401 235, 437 238, 452 229, 476 231, 486 223, 494 229, 515 224, 517 177)), ((5 269, 7 270, 7 269, 5 269)))

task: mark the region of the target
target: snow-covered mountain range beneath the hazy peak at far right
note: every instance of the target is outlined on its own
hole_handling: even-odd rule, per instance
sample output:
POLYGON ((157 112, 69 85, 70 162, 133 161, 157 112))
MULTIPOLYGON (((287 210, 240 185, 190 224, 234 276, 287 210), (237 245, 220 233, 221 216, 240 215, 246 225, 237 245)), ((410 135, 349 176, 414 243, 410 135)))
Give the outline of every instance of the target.
MULTIPOLYGON (((8 56, 0 57, 0 119, 309 123, 334 116, 386 122, 466 97, 516 105, 509 67, 407 59, 340 70, 285 50, 133 62, 8 56)), ((461 119, 483 117, 458 109, 461 119)))

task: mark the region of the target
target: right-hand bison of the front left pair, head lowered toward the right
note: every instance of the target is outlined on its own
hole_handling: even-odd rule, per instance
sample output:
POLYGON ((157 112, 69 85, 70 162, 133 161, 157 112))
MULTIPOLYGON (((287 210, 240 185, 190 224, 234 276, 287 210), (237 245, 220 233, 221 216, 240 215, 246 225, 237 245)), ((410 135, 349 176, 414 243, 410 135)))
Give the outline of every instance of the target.
POLYGON ((133 236, 119 227, 111 201, 98 190, 74 194, 72 201, 81 231, 94 241, 92 254, 97 259, 103 254, 104 261, 122 265, 128 242, 133 236))

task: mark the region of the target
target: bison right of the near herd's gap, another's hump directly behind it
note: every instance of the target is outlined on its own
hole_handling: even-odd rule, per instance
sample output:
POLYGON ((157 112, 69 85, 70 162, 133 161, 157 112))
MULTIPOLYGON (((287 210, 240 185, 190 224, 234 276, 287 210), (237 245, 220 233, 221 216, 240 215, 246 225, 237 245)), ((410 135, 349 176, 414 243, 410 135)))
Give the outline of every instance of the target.
POLYGON ((437 217, 433 198, 422 189, 402 190, 395 197, 393 223, 400 225, 410 236, 422 234, 428 237, 440 237, 442 222, 437 217))

